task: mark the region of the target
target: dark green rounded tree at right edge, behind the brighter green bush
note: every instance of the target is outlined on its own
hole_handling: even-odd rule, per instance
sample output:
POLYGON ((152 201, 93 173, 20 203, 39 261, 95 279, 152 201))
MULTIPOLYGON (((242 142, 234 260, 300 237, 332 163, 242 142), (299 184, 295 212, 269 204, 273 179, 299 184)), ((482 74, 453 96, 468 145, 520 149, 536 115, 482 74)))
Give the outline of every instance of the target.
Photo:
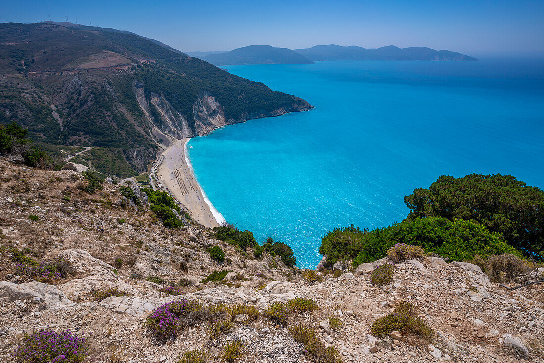
POLYGON ((511 175, 442 175, 429 189, 405 196, 409 219, 475 220, 507 243, 544 259, 544 192, 511 175))

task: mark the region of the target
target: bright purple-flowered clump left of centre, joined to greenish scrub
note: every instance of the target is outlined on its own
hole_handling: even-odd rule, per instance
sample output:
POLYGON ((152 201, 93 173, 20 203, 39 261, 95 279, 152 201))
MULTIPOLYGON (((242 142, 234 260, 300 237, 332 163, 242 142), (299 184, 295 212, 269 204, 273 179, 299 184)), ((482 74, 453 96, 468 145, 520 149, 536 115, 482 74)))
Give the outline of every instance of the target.
POLYGON ((202 305, 193 300, 181 299, 157 307, 147 317, 147 326, 163 339, 176 336, 186 325, 199 320, 202 305))

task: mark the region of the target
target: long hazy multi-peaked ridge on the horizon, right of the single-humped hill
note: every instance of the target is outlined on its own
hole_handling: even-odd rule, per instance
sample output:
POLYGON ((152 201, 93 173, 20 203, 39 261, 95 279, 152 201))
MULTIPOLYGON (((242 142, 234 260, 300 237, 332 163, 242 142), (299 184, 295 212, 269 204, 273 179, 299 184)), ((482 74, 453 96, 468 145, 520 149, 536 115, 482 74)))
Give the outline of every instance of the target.
POLYGON ((295 52, 311 60, 478 60, 461 53, 435 51, 430 48, 398 48, 395 46, 366 49, 356 46, 341 47, 336 44, 317 45, 295 52))

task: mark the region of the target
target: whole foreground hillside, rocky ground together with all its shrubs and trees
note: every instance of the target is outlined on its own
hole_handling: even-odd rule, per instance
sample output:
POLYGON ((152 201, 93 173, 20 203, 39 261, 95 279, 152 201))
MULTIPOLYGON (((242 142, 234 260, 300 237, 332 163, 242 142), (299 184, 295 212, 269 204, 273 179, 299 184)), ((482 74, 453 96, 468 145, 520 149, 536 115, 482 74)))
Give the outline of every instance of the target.
POLYGON ((440 177, 305 269, 168 193, 23 162, 0 157, 0 361, 544 362, 542 192, 514 177, 440 177))

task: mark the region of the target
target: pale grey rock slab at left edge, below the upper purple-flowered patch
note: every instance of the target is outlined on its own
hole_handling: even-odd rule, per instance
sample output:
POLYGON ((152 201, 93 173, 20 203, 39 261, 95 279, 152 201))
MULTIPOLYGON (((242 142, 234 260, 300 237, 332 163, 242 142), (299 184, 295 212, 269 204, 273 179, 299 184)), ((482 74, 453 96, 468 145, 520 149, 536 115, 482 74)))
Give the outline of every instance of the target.
POLYGON ((17 285, 12 282, 0 282, 0 297, 8 301, 36 299, 36 302, 45 303, 52 307, 75 305, 57 286, 43 284, 38 281, 24 282, 17 285))

